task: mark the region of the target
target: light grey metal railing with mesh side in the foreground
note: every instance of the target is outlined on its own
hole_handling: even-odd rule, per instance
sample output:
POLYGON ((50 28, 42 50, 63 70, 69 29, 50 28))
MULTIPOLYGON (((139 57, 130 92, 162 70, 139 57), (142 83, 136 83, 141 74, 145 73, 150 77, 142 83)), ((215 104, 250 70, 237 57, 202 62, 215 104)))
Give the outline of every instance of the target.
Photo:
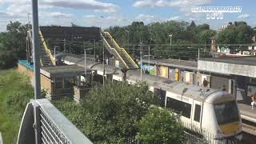
POLYGON ((32 100, 26 106, 18 144, 92 143, 47 99, 32 100))

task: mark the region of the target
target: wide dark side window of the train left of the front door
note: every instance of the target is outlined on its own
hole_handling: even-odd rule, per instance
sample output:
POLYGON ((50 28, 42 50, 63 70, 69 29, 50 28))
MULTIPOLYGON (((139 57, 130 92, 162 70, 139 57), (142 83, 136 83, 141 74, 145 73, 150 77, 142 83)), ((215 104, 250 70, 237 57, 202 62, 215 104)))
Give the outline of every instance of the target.
POLYGON ((174 110, 176 113, 182 113, 182 116, 190 118, 191 115, 191 105, 186 102, 178 101, 174 98, 167 97, 166 108, 174 110))

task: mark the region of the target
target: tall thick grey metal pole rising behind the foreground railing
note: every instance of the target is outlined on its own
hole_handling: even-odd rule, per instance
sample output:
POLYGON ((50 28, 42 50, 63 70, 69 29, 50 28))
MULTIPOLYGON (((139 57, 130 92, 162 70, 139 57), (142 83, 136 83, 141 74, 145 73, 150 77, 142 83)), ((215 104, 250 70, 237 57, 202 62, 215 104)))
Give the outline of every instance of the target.
POLYGON ((32 32, 33 32, 33 51, 34 51, 34 99, 41 98, 40 85, 40 60, 38 42, 38 0, 32 0, 32 32))

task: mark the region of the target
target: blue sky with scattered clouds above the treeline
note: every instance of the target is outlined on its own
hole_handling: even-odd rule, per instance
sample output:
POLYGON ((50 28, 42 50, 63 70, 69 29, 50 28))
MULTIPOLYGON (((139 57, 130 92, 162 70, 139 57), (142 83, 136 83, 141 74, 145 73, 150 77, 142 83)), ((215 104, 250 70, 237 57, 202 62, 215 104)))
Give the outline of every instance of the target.
MULTIPOLYGON (((256 26, 255 0, 38 0, 39 26, 127 26, 134 21, 192 20, 217 30, 227 22, 246 21, 256 26), (241 13, 224 13, 223 19, 206 19, 192 6, 241 6, 241 13)), ((10 21, 31 22, 31 0, 0 0, 0 31, 10 21)))

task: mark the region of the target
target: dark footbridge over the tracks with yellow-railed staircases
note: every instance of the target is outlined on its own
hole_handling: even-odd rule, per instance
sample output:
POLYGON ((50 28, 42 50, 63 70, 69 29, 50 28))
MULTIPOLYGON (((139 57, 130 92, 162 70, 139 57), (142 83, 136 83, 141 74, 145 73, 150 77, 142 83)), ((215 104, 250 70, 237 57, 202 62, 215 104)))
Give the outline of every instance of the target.
MULTIPOLYGON (((106 50, 118 58, 122 62, 122 68, 138 69, 138 65, 131 58, 126 50, 118 45, 109 32, 102 32, 98 27, 68 27, 68 26, 40 26, 39 27, 39 47, 40 47, 40 62, 41 66, 54 66, 56 59, 54 55, 54 47, 50 46, 50 40, 63 39, 70 42, 86 42, 94 39, 103 42, 106 50)), ((26 51, 27 59, 33 62, 32 48, 32 32, 27 32, 26 51)))

